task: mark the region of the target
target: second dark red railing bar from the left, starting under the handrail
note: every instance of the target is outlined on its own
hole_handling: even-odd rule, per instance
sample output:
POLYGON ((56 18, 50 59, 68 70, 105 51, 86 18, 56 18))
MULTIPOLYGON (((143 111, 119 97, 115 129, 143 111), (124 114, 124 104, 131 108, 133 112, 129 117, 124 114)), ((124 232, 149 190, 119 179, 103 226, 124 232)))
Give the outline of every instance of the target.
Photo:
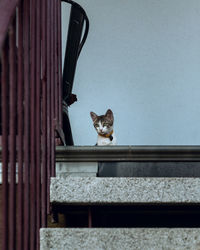
POLYGON ((9 183, 9 249, 16 249, 16 22, 9 30, 9 91, 10 91, 10 129, 9 129, 9 158, 10 158, 10 183, 9 183))

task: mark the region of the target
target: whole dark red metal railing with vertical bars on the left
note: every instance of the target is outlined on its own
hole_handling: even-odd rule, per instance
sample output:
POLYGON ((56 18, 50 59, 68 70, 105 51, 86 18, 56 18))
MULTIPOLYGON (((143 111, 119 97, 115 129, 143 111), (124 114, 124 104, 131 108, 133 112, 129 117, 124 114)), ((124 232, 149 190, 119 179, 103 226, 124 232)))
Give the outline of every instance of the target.
POLYGON ((1 249, 35 250, 62 131, 60 0, 1 0, 0 50, 1 249))

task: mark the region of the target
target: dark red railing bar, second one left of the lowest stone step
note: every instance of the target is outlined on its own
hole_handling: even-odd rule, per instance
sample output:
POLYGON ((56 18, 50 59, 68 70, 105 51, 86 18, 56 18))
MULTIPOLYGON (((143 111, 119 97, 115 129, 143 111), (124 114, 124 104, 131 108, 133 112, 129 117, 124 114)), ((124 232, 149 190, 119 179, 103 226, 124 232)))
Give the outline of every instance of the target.
POLYGON ((30 159, 31 159, 31 172, 30 172, 30 249, 35 250, 35 232, 36 232, 36 141, 35 141, 35 75, 36 75, 36 6, 35 0, 31 0, 31 20, 30 20, 30 159))

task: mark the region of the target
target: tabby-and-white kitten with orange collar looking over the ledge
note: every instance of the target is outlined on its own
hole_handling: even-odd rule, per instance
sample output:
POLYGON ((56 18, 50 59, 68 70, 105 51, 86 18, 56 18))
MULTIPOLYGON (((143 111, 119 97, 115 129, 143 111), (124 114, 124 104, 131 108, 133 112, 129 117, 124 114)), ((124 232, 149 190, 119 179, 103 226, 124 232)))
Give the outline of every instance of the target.
POLYGON ((116 145, 117 139, 113 131, 114 116, 113 112, 108 109, 105 115, 98 116, 90 112, 94 128, 97 131, 97 146, 116 145))

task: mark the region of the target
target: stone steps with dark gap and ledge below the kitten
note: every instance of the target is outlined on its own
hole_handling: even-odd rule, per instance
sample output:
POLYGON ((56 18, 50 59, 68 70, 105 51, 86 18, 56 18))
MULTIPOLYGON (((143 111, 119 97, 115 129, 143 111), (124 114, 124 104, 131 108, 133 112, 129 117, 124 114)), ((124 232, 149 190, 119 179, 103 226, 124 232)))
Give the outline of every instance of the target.
POLYGON ((58 148, 64 223, 40 230, 40 249, 200 249, 199 163, 199 147, 58 148))

